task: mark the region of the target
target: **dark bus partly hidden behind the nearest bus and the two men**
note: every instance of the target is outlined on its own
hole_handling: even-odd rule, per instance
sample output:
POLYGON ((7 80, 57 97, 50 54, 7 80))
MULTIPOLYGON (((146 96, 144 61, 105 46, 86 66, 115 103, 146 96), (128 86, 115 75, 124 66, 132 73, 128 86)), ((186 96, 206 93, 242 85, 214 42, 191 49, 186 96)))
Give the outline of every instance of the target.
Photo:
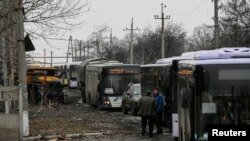
POLYGON ((151 91, 157 87, 160 94, 164 97, 165 106, 163 114, 163 125, 172 130, 172 95, 177 92, 177 62, 180 60, 190 59, 190 57, 176 56, 159 59, 155 64, 141 65, 141 91, 151 91))

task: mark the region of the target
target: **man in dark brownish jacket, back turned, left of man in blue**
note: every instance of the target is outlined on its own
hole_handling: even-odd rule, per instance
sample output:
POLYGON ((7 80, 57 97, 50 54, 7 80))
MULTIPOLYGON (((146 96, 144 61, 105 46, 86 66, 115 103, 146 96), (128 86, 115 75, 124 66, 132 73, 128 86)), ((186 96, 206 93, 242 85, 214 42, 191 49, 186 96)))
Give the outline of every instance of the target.
POLYGON ((146 126, 148 123, 148 135, 149 137, 153 137, 155 99, 152 97, 150 91, 148 91, 146 95, 140 99, 138 115, 141 116, 142 136, 146 134, 146 126))

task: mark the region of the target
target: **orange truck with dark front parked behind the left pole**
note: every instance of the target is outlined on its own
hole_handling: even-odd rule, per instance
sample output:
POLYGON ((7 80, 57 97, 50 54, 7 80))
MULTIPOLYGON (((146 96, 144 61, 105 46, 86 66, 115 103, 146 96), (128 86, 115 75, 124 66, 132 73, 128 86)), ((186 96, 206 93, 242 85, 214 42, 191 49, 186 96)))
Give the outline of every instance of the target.
POLYGON ((64 94, 56 69, 40 64, 27 65, 27 90, 28 100, 35 104, 43 98, 45 100, 59 101, 64 103, 64 94))

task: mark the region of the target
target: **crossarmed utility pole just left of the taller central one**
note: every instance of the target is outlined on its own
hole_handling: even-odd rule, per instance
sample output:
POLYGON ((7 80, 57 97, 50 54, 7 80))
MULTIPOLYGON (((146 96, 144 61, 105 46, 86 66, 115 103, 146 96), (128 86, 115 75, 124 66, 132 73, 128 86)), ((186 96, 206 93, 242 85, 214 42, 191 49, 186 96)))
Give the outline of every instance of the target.
POLYGON ((134 30, 139 30, 139 28, 134 28, 134 19, 132 18, 131 21, 131 27, 130 28, 125 28, 124 31, 130 30, 130 64, 134 63, 134 48, 133 48, 133 36, 134 36, 134 30))

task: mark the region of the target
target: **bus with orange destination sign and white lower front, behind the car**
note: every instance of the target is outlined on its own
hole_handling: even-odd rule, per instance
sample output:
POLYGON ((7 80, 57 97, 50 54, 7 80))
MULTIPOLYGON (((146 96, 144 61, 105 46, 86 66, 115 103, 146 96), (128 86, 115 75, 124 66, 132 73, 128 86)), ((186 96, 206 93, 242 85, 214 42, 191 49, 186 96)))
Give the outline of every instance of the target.
POLYGON ((100 59, 83 62, 81 67, 83 102, 100 109, 121 108, 127 85, 140 82, 139 65, 100 59))

